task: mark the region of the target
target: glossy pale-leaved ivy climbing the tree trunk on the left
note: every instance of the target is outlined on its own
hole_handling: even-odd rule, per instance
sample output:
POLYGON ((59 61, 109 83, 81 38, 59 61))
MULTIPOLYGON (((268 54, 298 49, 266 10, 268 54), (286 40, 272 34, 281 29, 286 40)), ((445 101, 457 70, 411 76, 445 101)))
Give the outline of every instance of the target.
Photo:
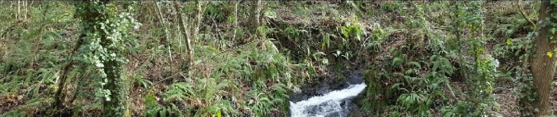
POLYGON ((79 1, 76 3, 76 15, 81 18, 84 27, 83 44, 79 49, 81 55, 77 60, 92 65, 97 70, 92 76, 100 80, 97 98, 103 100, 104 116, 124 116, 127 109, 126 83, 122 66, 128 62, 124 57, 125 42, 131 38, 130 29, 138 28, 132 14, 119 8, 110 1, 79 1))

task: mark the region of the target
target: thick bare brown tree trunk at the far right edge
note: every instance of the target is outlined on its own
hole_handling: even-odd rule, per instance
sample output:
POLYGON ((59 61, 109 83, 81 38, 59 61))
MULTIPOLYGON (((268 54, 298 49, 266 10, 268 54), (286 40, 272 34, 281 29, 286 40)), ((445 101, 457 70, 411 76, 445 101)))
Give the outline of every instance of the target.
MULTIPOLYGON (((551 80, 553 80, 554 73, 555 73, 555 58, 551 57, 554 52, 555 45, 551 43, 552 40, 557 40, 557 38, 551 39, 551 37, 555 37, 555 34, 550 32, 551 28, 557 28, 555 26, 549 25, 542 25, 548 22, 555 22, 554 18, 550 18, 550 21, 546 21, 545 19, 551 17, 551 13, 553 12, 546 12, 546 10, 555 9, 553 5, 551 5, 550 1, 543 1, 540 7, 540 16, 539 21, 543 21, 543 23, 538 24, 541 26, 538 28, 539 36, 535 39, 535 47, 536 53, 532 59, 532 72, 534 73, 534 89, 536 93, 539 94, 540 98, 534 101, 534 107, 538 108, 539 111, 533 111, 535 116, 540 115, 548 115, 549 110, 551 107, 549 106, 549 94, 550 94, 550 85, 551 80)), ((554 11, 554 10, 551 10, 554 11)))

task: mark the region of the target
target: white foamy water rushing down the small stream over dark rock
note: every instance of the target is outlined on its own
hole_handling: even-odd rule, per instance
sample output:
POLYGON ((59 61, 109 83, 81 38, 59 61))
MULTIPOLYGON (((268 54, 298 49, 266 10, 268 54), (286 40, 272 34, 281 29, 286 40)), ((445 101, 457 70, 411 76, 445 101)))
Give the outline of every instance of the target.
POLYGON ((290 101, 292 117, 302 116, 347 116, 350 99, 365 89, 364 83, 353 84, 342 90, 331 91, 323 96, 293 103, 290 101))

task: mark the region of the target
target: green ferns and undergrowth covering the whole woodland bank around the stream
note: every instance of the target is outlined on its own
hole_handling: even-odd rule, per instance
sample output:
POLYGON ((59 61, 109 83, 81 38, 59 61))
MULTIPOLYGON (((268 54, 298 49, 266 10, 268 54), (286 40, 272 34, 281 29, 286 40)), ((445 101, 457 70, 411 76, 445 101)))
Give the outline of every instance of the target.
POLYGON ((0 1, 0 98, 22 97, 1 116, 100 116, 108 100, 127 100, 123 116, 286 116, 292 88, 348 67, 368 67, 355 101, 378 116, 498 115, 496 89, 539 98, 525 63, 540 1, 264 1, 257 38, 250 4, 203 1, 194 39, 179 27, 198 1, 22 2, 0 1))

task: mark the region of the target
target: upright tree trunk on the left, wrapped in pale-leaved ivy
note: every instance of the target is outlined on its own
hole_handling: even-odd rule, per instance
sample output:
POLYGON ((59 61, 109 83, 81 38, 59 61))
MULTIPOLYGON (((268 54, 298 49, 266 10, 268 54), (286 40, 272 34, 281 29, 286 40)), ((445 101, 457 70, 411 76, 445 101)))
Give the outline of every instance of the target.
MULTIPOLYGON (((118 9, 110 3, 110 1, 80 1, 81 6, 78 6, 79 16, 82 19, 84 25, 84 34, 86 35, 86 40, 89 42, 97 41, 96 38, 100 40, 100 47, 105 50, 94 49, 91 53, 102 53, 105 57, 99 57, 99 61, 96 63, 97 68, 102 69, 104 72, 104 77, 100 77, 103 83, 102 91, 106 91, 103 97, 102 105, 102 115, 103 116, 124 116, 125 110, 127 109, 125 94, 127 92, 126 81, 121 76, 123 61, 125 58, 121 55, 122 50, 119 47, 122 43, 121 41, 115 41, 114 38, 123 39, 120 35, 114 35, 111 31, 105 30, 115 30, 119 31, 117 24, 118 21, 122 20, 115 16, 118 14, 118 9), (106 25, 100 22, 109 22, 106 25), (105 52, 102 52, 105 51, 105 52)), ((127 7, 123 7, 127 8, 127 7)), ((123 9, 122 11, 127 11, 123 9)), ((125 32, 125 31, 123 31, 125 32)), ((98 45, 94 45, 98 46, 98 45)), ((102 76, 102 75, 101 75, 102 76)))

